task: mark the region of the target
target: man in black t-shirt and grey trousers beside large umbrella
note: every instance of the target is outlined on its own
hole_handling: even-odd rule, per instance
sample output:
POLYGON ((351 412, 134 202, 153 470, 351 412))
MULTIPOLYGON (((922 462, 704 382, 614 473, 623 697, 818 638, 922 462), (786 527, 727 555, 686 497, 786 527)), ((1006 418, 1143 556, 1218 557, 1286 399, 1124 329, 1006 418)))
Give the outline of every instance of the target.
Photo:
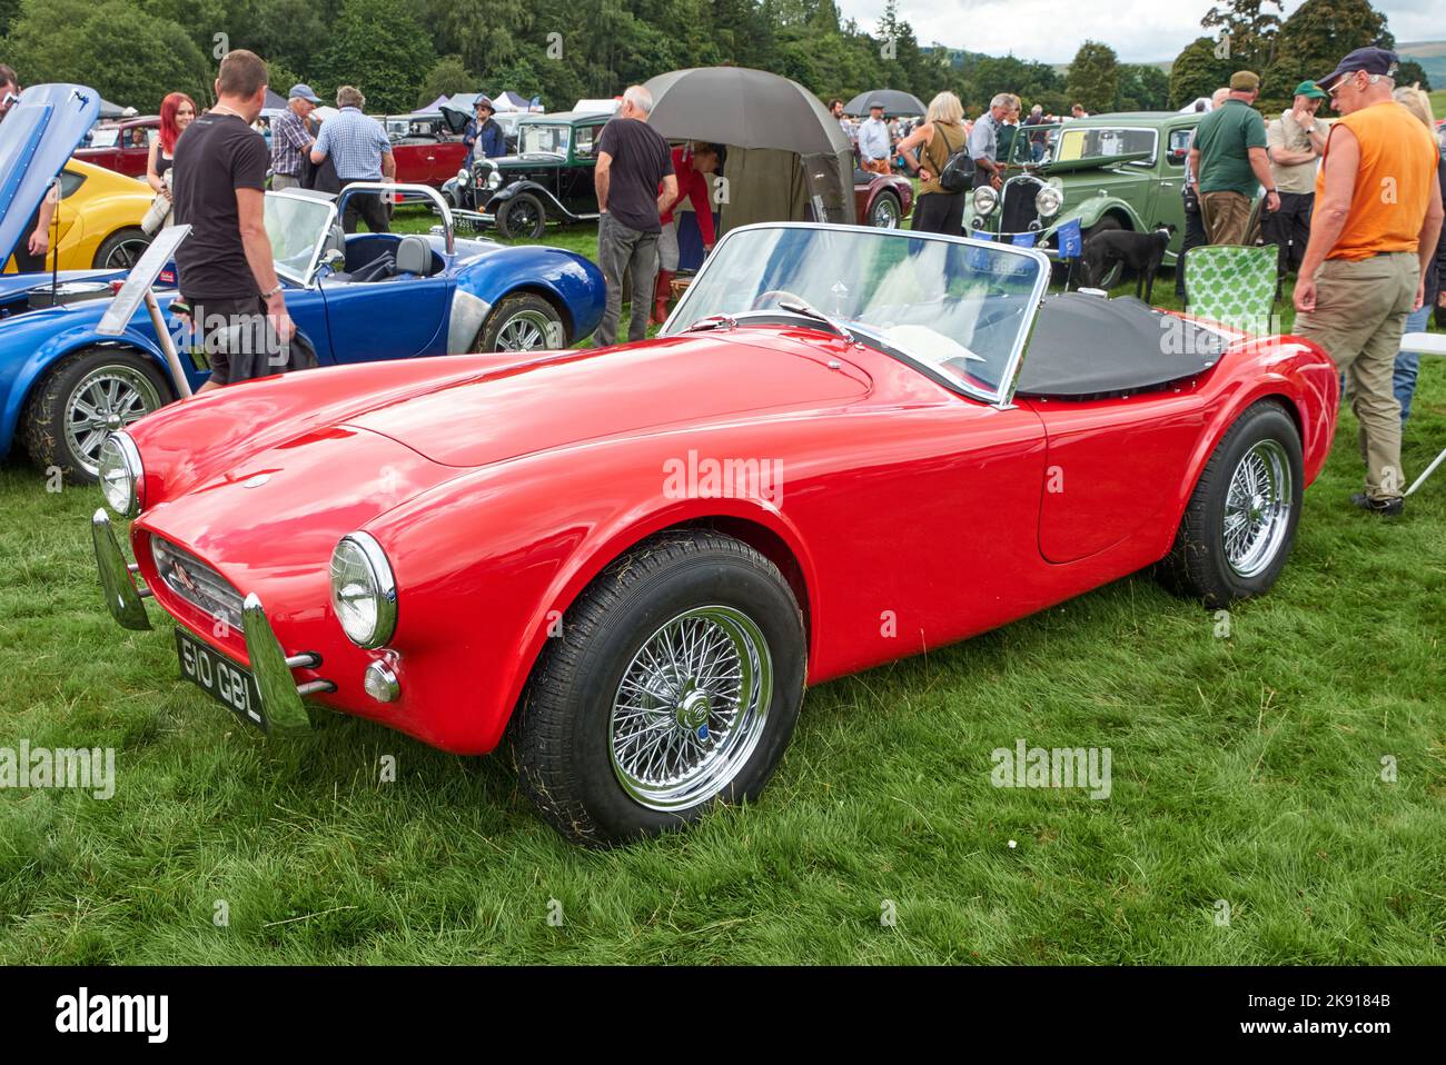
POLYGON ((658 276, 658 218, 662 208, 678 198, 678 179, 672 172, 668 142, 648 124, 652 94, 642 85, 623 92, 617 117, 603 126, 597 137, 597 264, 607 282, 607 309, 597 327, 597 347, 617 338, 617 318, 623 309, 623 275, 632 277, 632 316, 628 340, 648 335, 648 311, 654 280, 658 276), (662 195, 658 185, 662 185, 662 195))

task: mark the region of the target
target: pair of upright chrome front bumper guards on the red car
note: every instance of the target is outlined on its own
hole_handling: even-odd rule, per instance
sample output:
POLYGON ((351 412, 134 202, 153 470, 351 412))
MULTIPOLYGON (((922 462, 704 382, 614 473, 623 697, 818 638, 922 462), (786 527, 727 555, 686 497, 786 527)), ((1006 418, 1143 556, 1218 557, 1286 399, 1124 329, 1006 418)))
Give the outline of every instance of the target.
MULTIPOLYGON (((126 562, 104 510, 97 510, 91 517, 91 539, 95 545, 95 565, 100 569, 100 584, 106 592, 110 616, 124 629, 150 629, 145 600, 150 598, 152 592, 149 588, 136 587, 137 566, 126 562)), ((246 656, 250 659, 250 672, 262 697, 262 714, 266 717, 269 731, 309 728, 311 718, 307 715, 302 697, 335 691, 337 686, 331 681, 308 681, 298 685, 291 671, 315 669, 321 665, 321 657, 311 653, 288 656, 254 592, 246 597, 241 607, 241 627, 246 634, 246 656)))

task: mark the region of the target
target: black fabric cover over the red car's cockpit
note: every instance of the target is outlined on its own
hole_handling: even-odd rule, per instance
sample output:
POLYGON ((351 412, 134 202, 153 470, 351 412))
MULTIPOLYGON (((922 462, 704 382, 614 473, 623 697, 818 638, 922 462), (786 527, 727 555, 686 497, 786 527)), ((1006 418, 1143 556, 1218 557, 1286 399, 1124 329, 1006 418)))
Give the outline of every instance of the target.
POLYGON ((1024 355, 1021 396, 1083 399, 1155 389, 1220 361, 1228 341, 1134 296, 1045 296, 1024 355))

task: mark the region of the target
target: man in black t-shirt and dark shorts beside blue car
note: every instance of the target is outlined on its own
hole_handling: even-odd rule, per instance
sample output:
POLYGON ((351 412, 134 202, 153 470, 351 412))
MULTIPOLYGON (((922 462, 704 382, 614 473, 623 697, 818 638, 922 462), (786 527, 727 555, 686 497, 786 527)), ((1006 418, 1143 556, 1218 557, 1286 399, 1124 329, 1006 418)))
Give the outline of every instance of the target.
POLYGON ((179 302, 211 358, 201 392, 285 370, 295 334, 266 236, 270 152, 252 129, 266 103, 266 64, 227 52, 215 97, 176 142, 172 189, 175 223, 191 225, 176 249, 179 302))

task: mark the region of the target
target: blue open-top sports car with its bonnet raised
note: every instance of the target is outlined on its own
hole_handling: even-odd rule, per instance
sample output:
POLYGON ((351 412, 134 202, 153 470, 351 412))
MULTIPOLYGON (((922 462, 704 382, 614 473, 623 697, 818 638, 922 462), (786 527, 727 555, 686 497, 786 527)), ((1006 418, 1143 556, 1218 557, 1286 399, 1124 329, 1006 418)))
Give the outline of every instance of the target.
MULTIPOLYGON (((98 107, 94 90, 35 85, 0 123, 0 247, 27 237, 33 212, 98 107)), ((393 188, 434 199, 442 225, 427 236, 344 234, 338 218, 351 189, 340 198, 266 194, 266 231, 286 309, 321 367, 561 348, 597 328, 606 290, 594 263, 562 249, 457 240, 435 191, 393 188)), ((64 199, 58 214, 64 225, 64 199)), ((178 397, 145 308, 120 335, 97 328, 124 277, 116 270, 0 277, 0 458, 19 438, 42 470, 93 481, 107 434, 178 397)), ((194 389, 210 364, 169 314, 175 283, 175 270, 163 270, 155 295, 194 389)))

